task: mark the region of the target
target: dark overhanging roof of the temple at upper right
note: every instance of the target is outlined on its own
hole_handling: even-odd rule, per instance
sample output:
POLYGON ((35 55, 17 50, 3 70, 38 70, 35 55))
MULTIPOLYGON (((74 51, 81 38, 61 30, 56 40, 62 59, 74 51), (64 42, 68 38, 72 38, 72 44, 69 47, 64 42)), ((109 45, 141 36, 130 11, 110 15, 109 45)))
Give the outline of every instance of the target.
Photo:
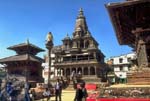
POLYGON ((150 27, 150 0, 128 0, 106 5, 118 41, 121 45, 135 47, 136 36, 133 33, 137 28, 150 27))

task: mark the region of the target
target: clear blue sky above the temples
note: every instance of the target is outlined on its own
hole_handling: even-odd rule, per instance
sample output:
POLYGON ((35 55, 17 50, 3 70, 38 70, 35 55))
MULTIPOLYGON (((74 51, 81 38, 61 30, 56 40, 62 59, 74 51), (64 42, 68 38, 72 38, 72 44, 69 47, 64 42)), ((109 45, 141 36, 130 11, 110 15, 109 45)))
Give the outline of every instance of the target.
MULTIPOLYGON (((106 56, 132 52, 119 45, 105 4, 124 0, 0 0, 0 58, 15 55, 7 47, 29 42, 45 49, 48 32, 54 46, 62 45, 67 33, 72 37, 75 21, 82 8, 88 29, 106 56)), ((41 52, 38 56, 46 54, 41 52)))

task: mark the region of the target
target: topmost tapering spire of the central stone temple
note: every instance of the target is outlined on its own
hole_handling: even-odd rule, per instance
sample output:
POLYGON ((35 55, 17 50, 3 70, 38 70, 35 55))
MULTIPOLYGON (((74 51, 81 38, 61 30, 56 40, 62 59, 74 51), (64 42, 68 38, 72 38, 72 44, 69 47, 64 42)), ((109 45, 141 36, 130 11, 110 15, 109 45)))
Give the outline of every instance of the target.
POLYGON ((75 24, 75 32, 82 32, 83 35, 88 31, 88 27, 86 24, 86 18, 83 14, 83 9, 79 9, 79 14, 76 19, 76 24, 75 24))

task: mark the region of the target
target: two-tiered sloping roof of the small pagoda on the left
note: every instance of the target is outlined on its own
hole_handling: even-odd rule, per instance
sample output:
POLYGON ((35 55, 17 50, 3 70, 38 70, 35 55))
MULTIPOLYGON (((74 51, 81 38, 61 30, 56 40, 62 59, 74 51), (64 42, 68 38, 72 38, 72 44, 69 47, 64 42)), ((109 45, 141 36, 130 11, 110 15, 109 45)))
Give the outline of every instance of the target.
POLYGON ((7 49, 14 50, 17 55, 6 57, 0 59, 0 63, 8 63, 14 61, 34 61, 43 62, 43 59, 35 56, 37 53, 44 51, 43 49, 31 44, 31 43, 21 43, 18 45, 10 46, 7 49))

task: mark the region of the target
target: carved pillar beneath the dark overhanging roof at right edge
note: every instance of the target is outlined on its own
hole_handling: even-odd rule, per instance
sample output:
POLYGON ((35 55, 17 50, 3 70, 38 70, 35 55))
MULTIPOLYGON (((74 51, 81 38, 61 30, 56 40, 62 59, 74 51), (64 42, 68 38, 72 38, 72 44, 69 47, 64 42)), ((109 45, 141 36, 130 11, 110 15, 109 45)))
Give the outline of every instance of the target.
POLYGON ((147 47, 150 45, 150 29, 136 28, 132 31, 136 36, 136 52, 137 52, 137 61, 139 67, 148 67, 149 66, 149 51, 147 47))

